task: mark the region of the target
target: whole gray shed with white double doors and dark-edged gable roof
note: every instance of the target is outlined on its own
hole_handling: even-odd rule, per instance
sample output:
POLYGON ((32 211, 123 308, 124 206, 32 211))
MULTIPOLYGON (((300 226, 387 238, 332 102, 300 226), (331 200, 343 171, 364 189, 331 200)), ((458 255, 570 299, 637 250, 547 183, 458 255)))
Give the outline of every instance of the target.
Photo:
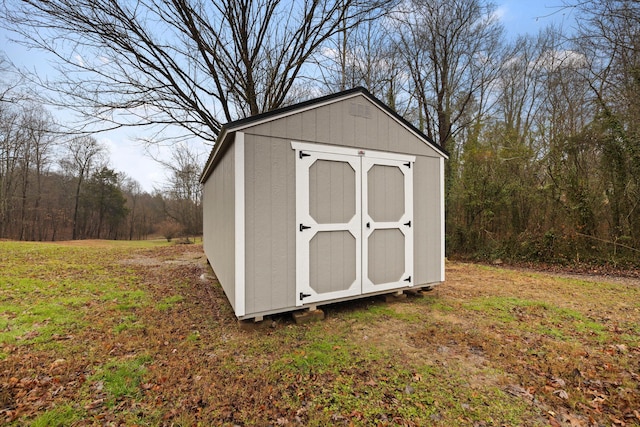
POLYGON ((363 88, 223 126, 203 240, 236 316, 444 281, 446 158, 363 88))

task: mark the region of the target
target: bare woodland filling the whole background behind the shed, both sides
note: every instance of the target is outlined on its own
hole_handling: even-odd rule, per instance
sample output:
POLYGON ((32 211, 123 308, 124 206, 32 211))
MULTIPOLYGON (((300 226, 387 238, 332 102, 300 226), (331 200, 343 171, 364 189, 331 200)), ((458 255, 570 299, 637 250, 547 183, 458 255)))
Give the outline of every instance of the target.
POLYGON ((201 232, 223 123, 364 86, 440 144, 449 256, 640 265, 640 4, 565 0, 508 37, 484 0, 37 0, 1 25, 58 80, 1 62, 0 238, 201 232), (79 121, 60 120, 56 108, 79 121), (149 192, 96 135, 168 144, 149 192))

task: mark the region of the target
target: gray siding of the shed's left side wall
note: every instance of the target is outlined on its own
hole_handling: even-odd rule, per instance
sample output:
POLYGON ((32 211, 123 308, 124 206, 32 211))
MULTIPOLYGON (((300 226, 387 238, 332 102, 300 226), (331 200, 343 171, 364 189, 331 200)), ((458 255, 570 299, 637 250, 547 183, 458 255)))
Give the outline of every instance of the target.
POLYGON ((204 184, 203 248, 235 309, 235 156, 233 145, 223 154, 204 184))

